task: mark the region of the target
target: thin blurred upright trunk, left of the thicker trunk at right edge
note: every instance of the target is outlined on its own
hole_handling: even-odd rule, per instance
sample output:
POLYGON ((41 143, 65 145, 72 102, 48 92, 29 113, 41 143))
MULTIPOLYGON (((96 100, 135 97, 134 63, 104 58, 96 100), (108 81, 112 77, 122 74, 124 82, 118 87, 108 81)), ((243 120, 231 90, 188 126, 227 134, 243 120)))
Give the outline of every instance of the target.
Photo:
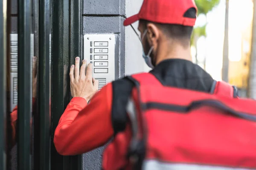
POLYGON ((224 33, 224 44, 223 44, 223 63, 222 63, 222 80, 228 82, 228 11, 229 11, 229 0, 226 0, 226 14, 225 14, 225 33, 224 33))

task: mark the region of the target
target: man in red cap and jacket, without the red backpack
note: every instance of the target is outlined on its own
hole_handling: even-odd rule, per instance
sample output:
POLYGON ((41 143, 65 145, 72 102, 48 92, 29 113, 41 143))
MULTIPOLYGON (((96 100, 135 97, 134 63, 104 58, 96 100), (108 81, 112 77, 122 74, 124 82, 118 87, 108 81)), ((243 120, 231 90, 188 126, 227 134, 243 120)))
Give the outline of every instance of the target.
MULTIPOLYGON (((144 0, 140 13, 126 19, 124 25, 140 21, 143 57, 153 68, 149 74, 164 86, 209 93, 213 79, 192 63, 190 53, 196 12, 194 0, 144 0)), ((99 82, 92 77, 92 65, 88 64, 85 75, 86 65, 84 60, 79 73, 77 57, 70 68, 73 99, 61 116, 54 136, 61 155, 82 154, 106 144, 125 129, 128 119, 125 108, 134 83, 123 78, 98 92, 99 82)))

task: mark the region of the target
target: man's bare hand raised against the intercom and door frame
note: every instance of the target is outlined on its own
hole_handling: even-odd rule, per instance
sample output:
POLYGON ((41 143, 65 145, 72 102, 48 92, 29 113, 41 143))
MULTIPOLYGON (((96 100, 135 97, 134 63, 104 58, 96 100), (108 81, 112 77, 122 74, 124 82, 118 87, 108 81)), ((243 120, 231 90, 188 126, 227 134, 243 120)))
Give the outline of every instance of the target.
POLYGON ((88 64, 86 74, 85 69, 87 61, 83 60, 79 74, 80 58, 76 57, 75 66, 70 68, 70 91, 72 97, 82 97, 87 102, 97 93, 99 81, 92 77, 92 64, 88 64), (75 72, 75 75, 74 75, 75 72))

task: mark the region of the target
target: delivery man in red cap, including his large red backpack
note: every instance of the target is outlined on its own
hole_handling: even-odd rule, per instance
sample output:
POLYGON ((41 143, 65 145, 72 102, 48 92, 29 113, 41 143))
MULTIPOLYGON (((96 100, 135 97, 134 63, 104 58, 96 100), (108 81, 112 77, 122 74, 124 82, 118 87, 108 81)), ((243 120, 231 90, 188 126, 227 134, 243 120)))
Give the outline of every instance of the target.
MULTIPOLYGON (((58 153, 86 153, 113 141, 104 170, 256 168, 256 102, 216 82, 192 63, 194 0, 144 0, 139 14, 143 58, 149 73, 103 87, 79 57, 70 68, 73 99, 55 130, 58 153), (87 102, 89 102, 87 104, 87 102), (230 167, 230 168, 229 168, 230 167)), ((135 31, 135 30, 134 30, 135 31)))

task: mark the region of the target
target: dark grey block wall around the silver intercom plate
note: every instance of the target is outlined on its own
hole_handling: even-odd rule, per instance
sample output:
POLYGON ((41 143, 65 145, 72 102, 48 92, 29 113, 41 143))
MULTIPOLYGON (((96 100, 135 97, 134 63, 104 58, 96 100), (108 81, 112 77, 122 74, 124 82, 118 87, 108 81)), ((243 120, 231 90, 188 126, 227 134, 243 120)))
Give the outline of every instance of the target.
MULTIPOLYGON (((84 0, 84 34, 116 35, 116 79, 125 76, 125 19, 124 0, 84 0)), ((83 155, 84 170, 100 170, 102 152, 100 147, 83 155)))

